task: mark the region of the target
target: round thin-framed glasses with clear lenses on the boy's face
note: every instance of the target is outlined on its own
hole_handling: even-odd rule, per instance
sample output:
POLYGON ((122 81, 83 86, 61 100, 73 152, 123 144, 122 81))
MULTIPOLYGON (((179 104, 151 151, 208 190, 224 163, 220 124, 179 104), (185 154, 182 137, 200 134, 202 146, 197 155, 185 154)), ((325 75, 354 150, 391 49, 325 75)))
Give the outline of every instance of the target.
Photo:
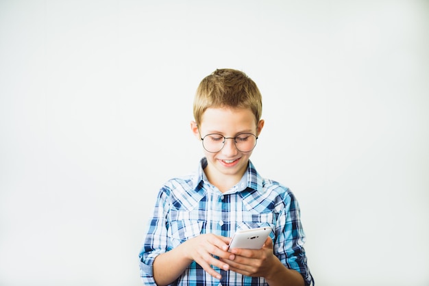
POLYGON ((258 137, 252 133, 240 133, 235 137, 225 137, 221 134, 212 133, 201 138, 201 141, 206 151, 217 153, 225 146, 225 141, 227 139, 234 139, 235 148, 237 148, 238 151, 250 152, 255 148, 258 137))

